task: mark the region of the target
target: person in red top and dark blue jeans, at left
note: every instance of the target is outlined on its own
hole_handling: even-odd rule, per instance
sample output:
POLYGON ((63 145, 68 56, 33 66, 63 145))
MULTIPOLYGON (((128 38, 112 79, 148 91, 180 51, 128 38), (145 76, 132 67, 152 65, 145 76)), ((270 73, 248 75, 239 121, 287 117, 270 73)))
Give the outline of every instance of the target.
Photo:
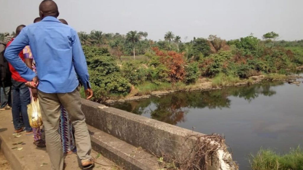
MULTIPOLYGON (((19 25, 17 27, 16 36, 18 36, 22 28, 24 27, 25 25, 19 25)), ((12 43, 12 41, 14 41, 14 38, 10 42, 8 42, 6 47, 8 47, 12 43)), ((23 51, 20 51, 19 56, 24 62, 23 51)), ((29 89, 27 86, 25 86, 25 83, 27 81, 20 76, 20 74, 14 69, 14 67, 12 67, 11 64, 8 65, 9 65, 9 70, 12 73, 12 97, 13 97, 12 116, 13 116, 15 133, 19 133, 26 130, 26 135, 32 135, 32 127, 29 124, 28 115, 27 115, 27 105, 31 103, 29 89), (21 122, 19 116, 20 111, 23 117, 23 123, 25 125, 25 129, 22 128, 22 124, 20 123, 21 122)))

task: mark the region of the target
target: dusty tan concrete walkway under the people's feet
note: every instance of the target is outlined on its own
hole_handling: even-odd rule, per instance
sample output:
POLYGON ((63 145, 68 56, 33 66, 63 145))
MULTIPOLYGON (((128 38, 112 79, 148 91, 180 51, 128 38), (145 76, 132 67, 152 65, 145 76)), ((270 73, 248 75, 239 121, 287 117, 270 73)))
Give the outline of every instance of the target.
MULTIPOLYGON (((14 127, 12 121, 11 110, 0 111, 0 150, 5 155, 14 170, 41 170, 51 169, 50 160, 46 149, 38 149, 33 144, 32 136, 25 136, 25 133, 20 133, 20 137, 15 137, 13 134, 14 127), (13 143, 22 142, 20 145, 13 143), (14 147, 23 148, 22 150, 12 149, 14 147), (45 164, 45 165, 43 165, 45 164), (41 165, 43 165, 41 167, 41 165)), ((18 136, 19 136, 18 135, 18 136)), ((97 157, 97 152, 93 151, 92 156, 97 157)), ((96 164, 95 170, 112 170, 119 167, 112 161, 100 155, 96 160, 102 165, 96 164)), ((80 170, 81 162, 77 159, 76 154, 68 155, 65 158, 67 167, 66 170, 80 170)))

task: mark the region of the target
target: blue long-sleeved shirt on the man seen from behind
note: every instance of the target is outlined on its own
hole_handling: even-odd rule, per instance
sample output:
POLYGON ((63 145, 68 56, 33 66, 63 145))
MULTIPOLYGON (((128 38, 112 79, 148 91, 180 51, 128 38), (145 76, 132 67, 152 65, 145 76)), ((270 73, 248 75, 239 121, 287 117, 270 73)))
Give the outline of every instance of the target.
POLYGON ((28 25, 5 50, 5 58, 25 80, 36 76, 18 56, 30 45, 36 62, 38 90, 45 93, 69 93, 79 85, 90 88, 85 56, 77 32, 55 17, 28 25))

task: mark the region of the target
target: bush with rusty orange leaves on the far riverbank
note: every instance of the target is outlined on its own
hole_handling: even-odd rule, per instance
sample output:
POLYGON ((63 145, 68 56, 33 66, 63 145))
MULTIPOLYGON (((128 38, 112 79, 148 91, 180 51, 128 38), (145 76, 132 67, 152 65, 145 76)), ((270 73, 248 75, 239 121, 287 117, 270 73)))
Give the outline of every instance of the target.
POLYGON ((156 55, 160 57, 163 63, 169 70, 169 78, 171 82, 183 80, 185 76, 184 69, 184 53, 177 53, 175 51, 161 51, 158 47, 154 47, 156 55))

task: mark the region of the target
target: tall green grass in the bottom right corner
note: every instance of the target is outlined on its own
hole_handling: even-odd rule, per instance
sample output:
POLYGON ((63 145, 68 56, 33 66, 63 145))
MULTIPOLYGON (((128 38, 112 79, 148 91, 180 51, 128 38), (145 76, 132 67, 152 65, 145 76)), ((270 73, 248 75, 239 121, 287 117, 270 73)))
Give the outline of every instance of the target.
POLYGON ((284 155, 261 149, 250 162, 252 170, 303 170, 303 152, 300 147, 284 155))

